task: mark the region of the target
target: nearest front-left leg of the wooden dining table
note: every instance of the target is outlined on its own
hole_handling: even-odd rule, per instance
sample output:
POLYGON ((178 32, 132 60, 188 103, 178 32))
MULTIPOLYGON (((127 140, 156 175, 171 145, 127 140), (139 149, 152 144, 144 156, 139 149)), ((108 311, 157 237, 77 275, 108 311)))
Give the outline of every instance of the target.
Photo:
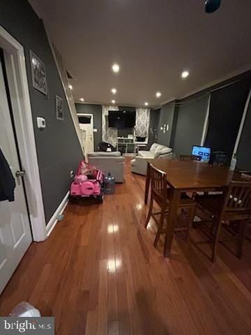
POLYGON ((172 248, 172 240, 174 237, 174 228, 176 225, 178 204, 180 202, 181 193, 175 188, 172 191, 172 198, 170 199, 169 216, 167 218, 167 234, 165 236, 164 256, 169 258, 172 248))

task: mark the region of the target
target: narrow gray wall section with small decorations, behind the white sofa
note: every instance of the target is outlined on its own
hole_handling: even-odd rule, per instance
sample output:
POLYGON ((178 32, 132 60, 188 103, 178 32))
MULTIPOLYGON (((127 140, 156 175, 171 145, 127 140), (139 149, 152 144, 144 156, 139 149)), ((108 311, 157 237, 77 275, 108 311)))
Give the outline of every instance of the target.
POLYGON ((160 111, 160 121, 158 126, 158 143, 166 145, 167 147, 170 146, 171 136, 172 136, 172 126, 174 120, 174 101, 171 103, 167 103, 161 107, 160 111), (160 127, 164 125, 168 125, 168 131, 160 130, 160 127))

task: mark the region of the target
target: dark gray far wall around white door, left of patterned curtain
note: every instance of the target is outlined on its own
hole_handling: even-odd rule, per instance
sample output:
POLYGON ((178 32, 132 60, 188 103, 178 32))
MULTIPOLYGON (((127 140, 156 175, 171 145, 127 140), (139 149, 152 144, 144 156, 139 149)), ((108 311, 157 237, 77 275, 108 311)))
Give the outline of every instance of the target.
POLYGON ((98 150, 98 144, 102 142, 102 106, 76 103, 78 113, 93 114, 93 127, 97 129, 94 133, 94 149, 98 150))

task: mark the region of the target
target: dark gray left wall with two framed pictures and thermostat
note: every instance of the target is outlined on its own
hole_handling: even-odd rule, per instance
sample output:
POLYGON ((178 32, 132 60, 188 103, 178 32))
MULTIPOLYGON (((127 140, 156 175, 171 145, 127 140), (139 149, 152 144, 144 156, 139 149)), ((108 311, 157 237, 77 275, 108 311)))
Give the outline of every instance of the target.
POLYGON ((45 218, 48 223, 69 189, 70 170, 76 170, 82 151, 43 22, 28 1, 1 0, 0 24, 24 47, 45 218), (47 96, 32 86, 30 50, 45 64, 49 91, 47 96), (55 95, 63 98, 63 121, 56 120, 55 95), (43 131, 37 128, 36 117, 45 117, 47 127, 43 131))

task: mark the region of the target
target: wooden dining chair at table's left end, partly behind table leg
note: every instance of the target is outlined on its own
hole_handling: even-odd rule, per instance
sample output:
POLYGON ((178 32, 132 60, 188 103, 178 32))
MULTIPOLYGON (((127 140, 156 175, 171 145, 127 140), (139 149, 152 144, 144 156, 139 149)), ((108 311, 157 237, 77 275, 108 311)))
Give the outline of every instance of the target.
MULTIPOLYGON (((169 195, 171 188, 167 184, 167 175, 153 167, 150 164, 150 176, 151 176, 151 201, 149 207, 149 214, 146 218, 145 228, 149 224, 150 218, 153 217, 155 223, 158 225, 157 234, 155 236, 154 246, 157 246, 158 240, 160 239, 160 234, 166 233, 167 229, 163 228, 165 218, 169 211, 169 195), (156 202, 160 207, 160 211, 153 212, 153 202, 156 202), (160 216, 158 220, 156 216, 160 216)), ((176 228, 176 230, 187 230, 187 241, 189 238, 190 229, 192 228, 192 221, 195 217, 197 203, 192 200, 187 195, 181 195, 181 200, 179 203, 179 208, 183 209, 187 214, 188 227, 176 228)))

